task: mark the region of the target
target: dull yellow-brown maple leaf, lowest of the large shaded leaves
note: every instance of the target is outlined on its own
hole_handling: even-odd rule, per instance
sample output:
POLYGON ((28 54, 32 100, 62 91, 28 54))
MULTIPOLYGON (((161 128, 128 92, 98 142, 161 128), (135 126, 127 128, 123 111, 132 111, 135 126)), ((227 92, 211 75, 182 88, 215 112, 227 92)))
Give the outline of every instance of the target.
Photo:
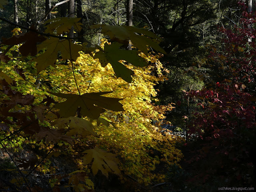
POLYGON ((92 162, 92 173, 97 174, 98 170, 102 171, 106 177, 108 177, 108 172, 113 172, 114 174, 119 175, 121 172, 118 168, 118 159, 116 155, 108 153, 105 150, 94 148, 84 151, 86 153, 84 156, 84 164, 87 165, 92 162))

